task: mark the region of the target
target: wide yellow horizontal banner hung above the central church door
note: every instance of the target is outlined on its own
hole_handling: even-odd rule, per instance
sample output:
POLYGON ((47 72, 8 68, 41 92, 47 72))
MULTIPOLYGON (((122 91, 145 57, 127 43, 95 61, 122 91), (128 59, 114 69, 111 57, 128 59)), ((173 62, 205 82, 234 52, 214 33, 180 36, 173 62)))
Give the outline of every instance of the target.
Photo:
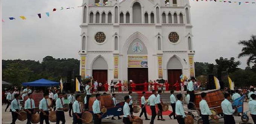
POLYGON ((148 67, 148 56, 128 56, 128 67, 148 67))

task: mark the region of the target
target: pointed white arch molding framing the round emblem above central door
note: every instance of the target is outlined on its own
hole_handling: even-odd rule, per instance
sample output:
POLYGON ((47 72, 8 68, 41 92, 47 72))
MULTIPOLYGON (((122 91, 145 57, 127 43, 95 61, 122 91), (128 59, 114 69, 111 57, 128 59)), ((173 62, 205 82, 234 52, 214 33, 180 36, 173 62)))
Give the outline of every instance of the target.
POLYGON ((140 33, 140 32, 135 32, 135 33, 133 33, 131 36, 129 36, 129 38, 126 39, 125 44, 123 45, 123 51, 122 51, 122 53, 127 53, 130 44, 131 44, 131 43, 134 41, 134 39, 136 39, 136 38, 140 39, 140 40, 143 42, 143 44, 146 46, 146 48, 147 48, 147 50, 148 50, 148 54, 149 54, 149 52, 151 52, 151 50, 152 50, 152 47, 148 44, 148 42, 146 42, 146 41, 148 41, 148 38, 146 38, 146 36, 144 36, 144 35, 143 35, 142 33, 140 33))

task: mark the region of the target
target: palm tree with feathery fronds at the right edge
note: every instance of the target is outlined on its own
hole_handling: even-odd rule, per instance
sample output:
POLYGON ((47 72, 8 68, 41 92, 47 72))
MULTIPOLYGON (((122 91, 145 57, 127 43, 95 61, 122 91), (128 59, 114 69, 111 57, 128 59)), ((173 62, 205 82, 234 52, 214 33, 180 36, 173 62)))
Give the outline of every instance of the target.
POLYGON ((250 40, 242 40, 238 42, 239 45, 243 45, 242 52, 238 55, 238 58, 248 57, 247 65, 250 63, 256 64, 256 35, 251 35, 250 40))

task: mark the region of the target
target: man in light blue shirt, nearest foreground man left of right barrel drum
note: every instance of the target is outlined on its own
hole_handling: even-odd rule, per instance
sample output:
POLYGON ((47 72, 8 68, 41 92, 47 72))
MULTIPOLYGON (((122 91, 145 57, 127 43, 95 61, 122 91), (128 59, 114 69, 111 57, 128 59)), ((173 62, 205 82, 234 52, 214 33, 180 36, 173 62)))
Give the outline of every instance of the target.
POLYGON ((183 97, 182 94, 177 94, 176 96, 178 99, 175 105, 176 119, 178 121, 178 124, 185 124, 184 118, 186 117, 186 115, 182 104, 183 97))

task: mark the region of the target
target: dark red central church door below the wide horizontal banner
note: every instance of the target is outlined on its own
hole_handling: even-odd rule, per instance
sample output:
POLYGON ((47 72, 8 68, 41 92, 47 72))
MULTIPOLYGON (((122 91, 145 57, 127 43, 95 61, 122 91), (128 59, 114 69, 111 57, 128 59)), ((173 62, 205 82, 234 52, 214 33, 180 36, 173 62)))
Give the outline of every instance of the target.
MULTIPOLYGON (((128 68, 128 81, 133 80, 134 83, 140 84, 148 81, 148 68, 128 68)), ((136 91, 143 91, 144 85, 136 86, 136 91)))

